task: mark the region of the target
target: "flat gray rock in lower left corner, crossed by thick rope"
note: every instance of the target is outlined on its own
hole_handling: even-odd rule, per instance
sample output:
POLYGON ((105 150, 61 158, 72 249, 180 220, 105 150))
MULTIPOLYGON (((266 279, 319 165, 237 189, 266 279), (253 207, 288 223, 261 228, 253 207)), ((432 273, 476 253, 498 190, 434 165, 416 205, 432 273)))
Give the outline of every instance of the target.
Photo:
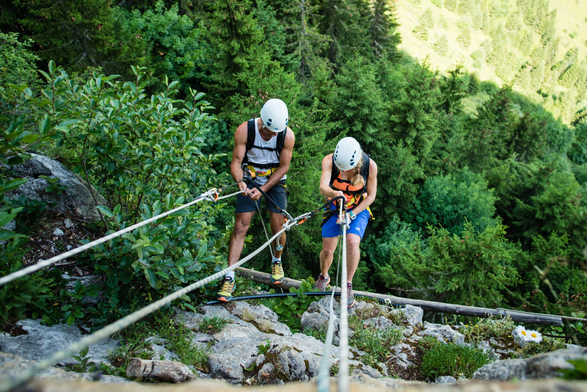
MULTIPOLYGON (((17 326, 28 334, 19 336, 10 336, 7 333, 0 335, 0 351, 15 354, 26 360, 41 360, 52 356, 63 347, 69 346, 77 340, 82 339, 82 333, 79 328, 68 327, 65 324, 55 324, 52 327, 41 325, 41 320, 21 320, 16 322, 17 326)), ((89 347, 87 357, 92 357, 90 361, 108 362, 108 350, 112 350, 119 345, 115 339, 103 339, 99 343, 89 347)), ((59 364, 76 364, 77 361, 69 358, 59 364)))

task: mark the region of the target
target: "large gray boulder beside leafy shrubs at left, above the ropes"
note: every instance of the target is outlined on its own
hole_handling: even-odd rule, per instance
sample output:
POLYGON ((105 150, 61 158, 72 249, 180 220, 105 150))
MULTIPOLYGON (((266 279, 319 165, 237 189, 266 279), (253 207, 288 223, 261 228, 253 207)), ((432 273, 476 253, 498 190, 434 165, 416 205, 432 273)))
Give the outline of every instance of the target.
POLYGON ((106 205, 107 201, 104 197, 96 195, 97 192, 93 187, 89 187, 85 180, 82 180, 81 177, 58 161, 43 155, 31 155, 32 158, 21 165, 12 166, 17 177, 25 178, 28 181, 18 189, 9 192, 11 197, 16 198, 23 195, 33 200, 55 202, 53 210, 57 212, 79 209, 83 216, 99 218, 100 215, 94 205, 106 205), (66 189, 59 195, 56 192, 47 193, 45 188, 49 182, 39 176, 57 178, 60 185, 65 186, 66 189), (92 192, 90 192, 90 188, 92 192), (96 199, 93 196, 96 196, 96 199))

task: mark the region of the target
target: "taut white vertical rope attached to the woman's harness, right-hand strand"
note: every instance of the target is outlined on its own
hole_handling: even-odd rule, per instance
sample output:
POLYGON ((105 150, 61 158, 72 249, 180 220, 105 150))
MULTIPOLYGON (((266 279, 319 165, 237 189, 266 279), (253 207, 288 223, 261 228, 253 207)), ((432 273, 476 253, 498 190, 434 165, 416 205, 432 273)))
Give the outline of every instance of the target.
MULTIPOLYGON (((340 203, 342 206, 343 203, 340 203)), ((342 207, 341 207, 342 210, 342 207)), ((340 273, 340 327, 339 327, 339 364, 338 364, 338 392, 349 391, 349 300, 347 296, 348 281, 346 273, 346 225, 349 215, 345 212, 342 225, 342 272, 340 273)))

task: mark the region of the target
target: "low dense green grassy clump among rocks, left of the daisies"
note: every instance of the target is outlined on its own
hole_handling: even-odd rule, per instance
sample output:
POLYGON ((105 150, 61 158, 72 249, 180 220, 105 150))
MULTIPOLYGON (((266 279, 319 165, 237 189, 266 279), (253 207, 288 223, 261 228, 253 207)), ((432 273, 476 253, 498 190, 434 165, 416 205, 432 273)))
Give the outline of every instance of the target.
MULTIPOLYGON (((422 339, 420 342, 423 342, 422 339)), ((475 370, 490 363, 489 357, 482 350, 474 347, 457 346, 453 343, 440 343, 436 339, 419 343, 423 349, 420 371, 424 376, 464 376, 470 378, 475 370)))

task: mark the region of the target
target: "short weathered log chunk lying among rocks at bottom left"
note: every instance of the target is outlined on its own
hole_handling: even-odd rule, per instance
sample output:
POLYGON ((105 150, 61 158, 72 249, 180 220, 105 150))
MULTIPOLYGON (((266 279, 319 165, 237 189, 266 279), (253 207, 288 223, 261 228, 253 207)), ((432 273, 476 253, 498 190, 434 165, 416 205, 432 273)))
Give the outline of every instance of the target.
POLYGON ((160 380, 181 383, 195 378, 194 373, 181 362, 153 361, 140 358, 130 360, 126 368, 127 377, 159 378, 160 380))

